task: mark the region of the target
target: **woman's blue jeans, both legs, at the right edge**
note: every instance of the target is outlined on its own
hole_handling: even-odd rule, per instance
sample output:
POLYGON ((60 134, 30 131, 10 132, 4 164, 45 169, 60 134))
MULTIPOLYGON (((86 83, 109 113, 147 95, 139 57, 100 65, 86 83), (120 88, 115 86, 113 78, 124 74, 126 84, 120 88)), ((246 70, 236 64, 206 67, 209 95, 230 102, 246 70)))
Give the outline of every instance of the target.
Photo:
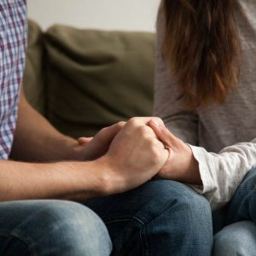
POLYGON ((214 218, 224 225, 214 237, 214 255, 256 255, 256 169, 247 173, 230 204, 214 218))

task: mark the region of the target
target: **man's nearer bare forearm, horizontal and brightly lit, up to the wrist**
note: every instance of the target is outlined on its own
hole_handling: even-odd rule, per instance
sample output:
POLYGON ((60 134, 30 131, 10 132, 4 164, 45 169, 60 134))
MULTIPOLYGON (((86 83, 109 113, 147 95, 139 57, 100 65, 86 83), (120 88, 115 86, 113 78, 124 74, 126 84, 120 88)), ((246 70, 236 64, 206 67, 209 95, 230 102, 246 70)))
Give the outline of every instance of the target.
POLYGON ((30 164, 0 160, 0 201, 85 200, 107 193, 101 161, 30 164))

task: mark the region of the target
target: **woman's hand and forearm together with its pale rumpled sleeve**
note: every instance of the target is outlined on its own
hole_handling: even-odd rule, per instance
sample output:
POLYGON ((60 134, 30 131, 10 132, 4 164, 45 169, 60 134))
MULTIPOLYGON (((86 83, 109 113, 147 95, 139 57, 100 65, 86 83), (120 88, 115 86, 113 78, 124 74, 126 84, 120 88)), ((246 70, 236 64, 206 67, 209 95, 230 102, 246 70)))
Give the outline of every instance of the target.
POLYGON ((183 143, 164 125, 155 125, 154 119, 149 125, 170 150, 169 160, 156 177, 195 184, 193 187, 206 195, 213 209, 228 203, 242 178, 256 167, 256 138, 214 154, 183 143))

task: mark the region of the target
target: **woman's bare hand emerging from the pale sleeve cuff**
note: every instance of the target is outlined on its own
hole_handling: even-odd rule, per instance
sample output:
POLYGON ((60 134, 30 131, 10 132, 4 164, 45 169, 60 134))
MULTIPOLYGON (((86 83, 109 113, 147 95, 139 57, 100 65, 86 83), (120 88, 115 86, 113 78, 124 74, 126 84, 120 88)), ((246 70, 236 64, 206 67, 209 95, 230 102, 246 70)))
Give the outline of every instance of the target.
POLYGON ((201 184, 199 165, 189 145, 175 137, 157 119, 152 119, 149 126, 170 151, 166 165, 158 172, 156 177, 172 179, 182 183, 201 184))

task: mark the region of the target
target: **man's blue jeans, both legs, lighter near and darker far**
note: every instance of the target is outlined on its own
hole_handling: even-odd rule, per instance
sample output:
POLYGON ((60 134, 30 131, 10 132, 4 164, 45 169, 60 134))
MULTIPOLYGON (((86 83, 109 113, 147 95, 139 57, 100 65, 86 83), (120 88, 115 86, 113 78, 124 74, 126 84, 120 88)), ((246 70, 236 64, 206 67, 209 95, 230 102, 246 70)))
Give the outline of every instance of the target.
POLYGON ((212 214, 188 186, 150 181, 120 195, 84 202, 0 203, 0 255, 207 256, 212 214), (89 210, 89 207, 102 220, 89 210))

